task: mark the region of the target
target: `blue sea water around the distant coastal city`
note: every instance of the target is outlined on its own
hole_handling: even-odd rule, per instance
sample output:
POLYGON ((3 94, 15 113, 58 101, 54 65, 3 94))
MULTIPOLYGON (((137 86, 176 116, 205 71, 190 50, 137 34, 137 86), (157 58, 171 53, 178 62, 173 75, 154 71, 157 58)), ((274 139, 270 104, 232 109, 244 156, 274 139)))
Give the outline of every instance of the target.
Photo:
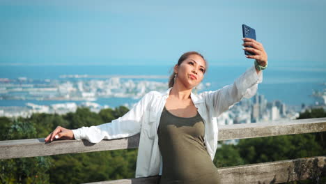
MULTIPOLYGON (((203 83, 211 85, 205 91, 214 91, 228 84, 233 84, 236 78, 251 66, 209 66, 203 83)), ((62 79, 63 75, 165 75, 169 76, 172 66, 0 66, 0 78, 17 79, 62 79)), ((167 82, 166 79, 159 79, 167 82)), ((323 91, 326 86, 326 68, 273 68, 263 70, 263 82, 258 84, 258 93, 265 96, 268 102, 281 100, 288 106, 300 107, 313 105, 315 98, 313 90, 323 91)), ((1 83, 0 83, 1 86, 1 83)), ((167 86, 166 86, 167 88, 167 86)), ((198 91, 199 93, 201 91, 198 91)), ((0 106, 24 106, 27 102, 37 105, 50 105, 68 101, 38 101, 38 100, 0 100, 0 106)), ((69 101, 72 102, 72 101, 69 101)), ((118 107, 126 103, 137 102, 133 98, 99 98, 95 102, 100 105, 118 107)), ((77 104, 80 103, 77 102, 77 104)))

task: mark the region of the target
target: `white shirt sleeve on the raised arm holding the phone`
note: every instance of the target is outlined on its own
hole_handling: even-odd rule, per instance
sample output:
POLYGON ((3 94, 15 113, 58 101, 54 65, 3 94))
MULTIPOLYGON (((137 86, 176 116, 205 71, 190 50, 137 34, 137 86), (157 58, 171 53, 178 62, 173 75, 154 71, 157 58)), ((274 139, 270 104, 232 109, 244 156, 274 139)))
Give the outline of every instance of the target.
POLYGON ((257 74, 255 66, 248 68, 233 84, 224 86, 217 91, 206 91, 206 102, 212 103, 217 115, 230 109, 242 98, 253 97, 258 89, 258 84, 263 82, 263 70, 257 74))

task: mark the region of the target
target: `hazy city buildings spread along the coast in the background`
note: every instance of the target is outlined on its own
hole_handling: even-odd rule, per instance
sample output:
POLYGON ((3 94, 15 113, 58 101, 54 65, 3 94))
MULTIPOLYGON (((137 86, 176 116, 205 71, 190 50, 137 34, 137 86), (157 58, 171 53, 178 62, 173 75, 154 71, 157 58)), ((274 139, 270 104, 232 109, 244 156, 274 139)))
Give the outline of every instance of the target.
MULTIPOLYGON (((111 77, 108 79, 80 80, 36 80, 21 77, 16 80, 3 80, 0 88, 0 100, 20 100, 24 106, 0 106, 0 116, 29 117, 34 113, 66 114, 76 112, 79 107, 87 107, 91 112, 123 105, 132 108, 135 102, 149 91, 166 91, 166 82, 148 80, 123 79, 111 77), (110 103, 109 98, 117 101, 125 98, 125 103, 110 103), (127 100, 126 100, 127 99, 127 100), (115 105, 114 105, 115 104, 115 105), (118 106, 117 106, 118 104, 118 106)), ((78 79, 69 80, 69 79, 78 79)), ((201 84, 198 91, 206 89, 211 84, 201 84)), ((196 93, 196 91, 194 91, 196 93)), ((112 102, 112 101, 111 101, 112 102)), ((219 124, 255 123, 279 121, 284 118, 295 119, 298 113, 293 107, 286 107, 281 100, 268 102, 265 96, 256 93, 253 98, 245 98, 235 103, 224 115, 219 117, 219 124)))

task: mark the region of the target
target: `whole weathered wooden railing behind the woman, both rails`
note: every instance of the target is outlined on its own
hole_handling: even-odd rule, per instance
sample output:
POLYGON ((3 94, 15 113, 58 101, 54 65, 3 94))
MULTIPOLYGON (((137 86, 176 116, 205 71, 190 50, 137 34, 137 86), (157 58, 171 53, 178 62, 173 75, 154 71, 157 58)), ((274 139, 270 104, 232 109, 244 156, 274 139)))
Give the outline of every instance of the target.
MULTIPOLYGON (((221 125, 219 126, 219 141, 325 131, 326 118, 221 125)), ((98 144, 77 140, 53 141, 45 144, 44 138, 0 141, 0 159, 137 148, 138 144, 139 135, 124 139, 103 140, 98 144)), ((326 156, 247 164, 237 167, 219 167, 218 171, 223 183, 284 183, 308 178, 318 180, 318 177, 326 176, 326 156)), ((156 181, 157 176, 95 183, 136 184, 156 183, 156 181)))

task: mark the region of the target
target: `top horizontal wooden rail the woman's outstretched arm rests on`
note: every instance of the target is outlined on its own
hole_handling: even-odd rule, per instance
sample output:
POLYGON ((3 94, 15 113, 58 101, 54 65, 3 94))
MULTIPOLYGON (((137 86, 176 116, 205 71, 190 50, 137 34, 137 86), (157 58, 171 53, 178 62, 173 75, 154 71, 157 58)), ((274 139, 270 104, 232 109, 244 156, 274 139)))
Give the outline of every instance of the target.
MULTIPOLYGON (((324 131, 326 131, 326 118, 310 118, 270 123, 220 125, 218 140, 295 135, 324 131)), ((92 144, 85 140, 61 140, 52 141, 51 143, 46 144, 44 138, 0 141, 0 159, 109 151, 137 148, 138 145, 139 134, 123 139, 103 140, 98 144, 92 144)))

